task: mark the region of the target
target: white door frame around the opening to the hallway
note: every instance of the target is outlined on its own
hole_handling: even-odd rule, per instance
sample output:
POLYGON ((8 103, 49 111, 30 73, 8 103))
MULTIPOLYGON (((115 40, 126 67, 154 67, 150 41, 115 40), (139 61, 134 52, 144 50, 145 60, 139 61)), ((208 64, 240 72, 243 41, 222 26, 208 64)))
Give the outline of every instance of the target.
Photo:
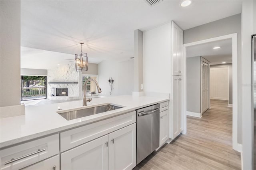
POLYGON ((187 82, 186 82, 186 47, 192 45, 198 45, 202 43, 215 42, 219 40, 232 39, 232 80, 233 80, 233 113, 232 113, 232 148, 238 152, 242 151, 242 144, 238 143, 238 34, 228 34, 225 36, 219 36, 206 40, 200 40, 197 42, 183 44, 184 53, 184 130, 182 133, 187 132, 187 82))

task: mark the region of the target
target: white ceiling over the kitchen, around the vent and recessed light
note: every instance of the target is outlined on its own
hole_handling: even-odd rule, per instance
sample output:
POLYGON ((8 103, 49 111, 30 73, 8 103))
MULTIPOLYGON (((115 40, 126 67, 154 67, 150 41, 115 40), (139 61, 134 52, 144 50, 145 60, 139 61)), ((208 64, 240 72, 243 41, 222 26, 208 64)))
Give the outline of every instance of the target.
MULTIPOLYGON (((163 0, 149 6, 145 0, 22 0, 21 45, 72 54, 73 59, 81 51, 79 42, 84 42, 89 58, 128 59, 134 56, 136 29, 174 20, 186 30, 242 11, 240 0, 194 0, 186 8, 180 2, 163 0)), ((46 55, 33 57, 38 61, 46 55)))

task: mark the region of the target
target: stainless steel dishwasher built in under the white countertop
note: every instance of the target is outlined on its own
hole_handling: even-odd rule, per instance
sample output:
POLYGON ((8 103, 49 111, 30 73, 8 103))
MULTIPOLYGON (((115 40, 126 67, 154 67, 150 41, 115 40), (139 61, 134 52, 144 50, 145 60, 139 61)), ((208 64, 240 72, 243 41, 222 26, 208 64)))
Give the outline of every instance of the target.
POLYGON ((159 146, 159 104, 136 110, 137 161, 140 163, 159 146))

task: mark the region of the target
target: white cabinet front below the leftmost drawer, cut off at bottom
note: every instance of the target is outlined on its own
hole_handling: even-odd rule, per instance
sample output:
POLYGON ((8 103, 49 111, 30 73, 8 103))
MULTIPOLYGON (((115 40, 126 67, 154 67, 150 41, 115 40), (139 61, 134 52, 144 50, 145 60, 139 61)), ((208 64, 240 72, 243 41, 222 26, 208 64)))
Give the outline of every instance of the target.
POLYGON ((22 170, 60 170, 60 156, 48 158, 22 170))

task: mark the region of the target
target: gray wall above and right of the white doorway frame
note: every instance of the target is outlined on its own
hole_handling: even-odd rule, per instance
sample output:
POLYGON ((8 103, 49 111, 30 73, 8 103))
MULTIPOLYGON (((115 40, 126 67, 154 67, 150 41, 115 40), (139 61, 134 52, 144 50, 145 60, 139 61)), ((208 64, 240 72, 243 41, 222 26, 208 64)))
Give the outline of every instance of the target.
MULTIPOLYGON (((184 44, 238 33, 238 82, 242 82, 241 14, 184 30, 184 44)), ((238 143, 242 143, 242 86, 238 83, 238 143)))

